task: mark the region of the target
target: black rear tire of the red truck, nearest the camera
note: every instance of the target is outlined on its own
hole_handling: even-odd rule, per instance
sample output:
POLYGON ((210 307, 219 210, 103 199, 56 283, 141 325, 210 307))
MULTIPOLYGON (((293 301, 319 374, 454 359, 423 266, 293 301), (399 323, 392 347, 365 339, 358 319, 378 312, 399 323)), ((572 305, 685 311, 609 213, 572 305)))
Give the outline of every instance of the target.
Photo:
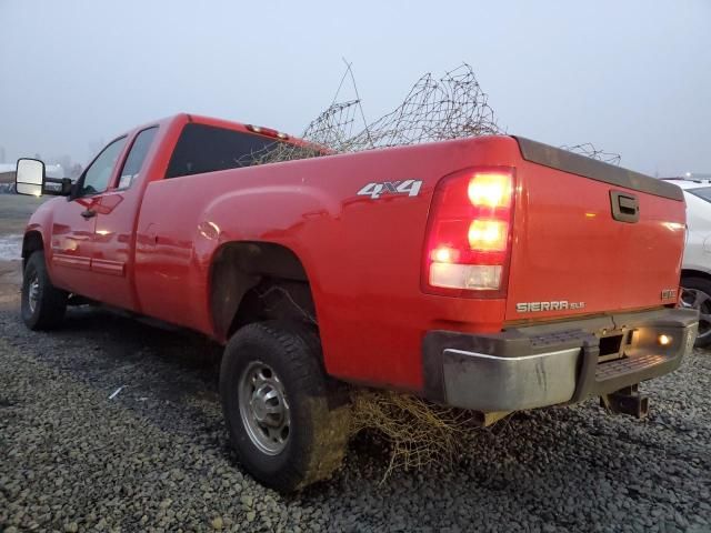
MULTIPOLYGON (((350 404, 342 391, 326 375, 320 341, 312 326, 269 321, 239 330, 224 350, 220 398, 230 440, 244 469, 280 492, 329 479, 341 465, 348 445, 350 404), (246 411, 254 412, 252 403, 247 409, 240 396, 249 391, 253 400, 258 386, 253 380, 246 380, 249 386, 240 388, 240 380, 260 364, 273 370, 290 420, 288 436, 281 443, 284 447, 271 453, 259 447, 260 438, 250 435, 240 412, 240 403, 246 411)), ((252 422, 252 431, 254 424, 259 423, 252 422)), ((263 433, 261 439, 266 439, 263 433)))

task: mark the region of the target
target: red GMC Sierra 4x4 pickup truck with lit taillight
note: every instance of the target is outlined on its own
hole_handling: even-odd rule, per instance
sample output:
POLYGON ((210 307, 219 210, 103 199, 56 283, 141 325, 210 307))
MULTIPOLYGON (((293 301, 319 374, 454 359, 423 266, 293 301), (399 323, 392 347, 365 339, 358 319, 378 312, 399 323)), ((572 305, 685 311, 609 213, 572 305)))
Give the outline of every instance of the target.
POLYGON ((693 344, 672 183, 517 137, 261 164, 284 145, 319 150, 179 114, 73 184, 20 160, 18 192, 63 197, 27 227, 26 324, 90 301, 226 344, 231 441, 283 491, 340 464, 347 383, 479 413, 601 396, 642 414, 637 385, 693 344))

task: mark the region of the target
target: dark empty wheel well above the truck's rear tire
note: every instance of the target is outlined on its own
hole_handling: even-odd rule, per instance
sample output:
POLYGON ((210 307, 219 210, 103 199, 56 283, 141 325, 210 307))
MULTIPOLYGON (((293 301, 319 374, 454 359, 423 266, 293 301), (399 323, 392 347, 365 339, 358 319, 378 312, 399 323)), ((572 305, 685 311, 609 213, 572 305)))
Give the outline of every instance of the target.
POLYGON ((232 242, 218 250, 210 275, 216 333, 229 339, 251 322, 292 319, 316 323, 303 264, 296 253, 269 242, 232 242))

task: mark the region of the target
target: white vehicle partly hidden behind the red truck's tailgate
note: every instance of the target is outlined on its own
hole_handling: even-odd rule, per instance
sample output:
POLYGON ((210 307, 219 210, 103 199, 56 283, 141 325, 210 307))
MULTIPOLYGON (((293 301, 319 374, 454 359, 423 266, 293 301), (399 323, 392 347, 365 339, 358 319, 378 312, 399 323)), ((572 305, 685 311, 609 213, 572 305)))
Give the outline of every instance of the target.
POLYGON ((684 191, 687 245, 681 265, 681 305, 699 310, 697 346, 711 344, 711 174, 663 178, 684 191))

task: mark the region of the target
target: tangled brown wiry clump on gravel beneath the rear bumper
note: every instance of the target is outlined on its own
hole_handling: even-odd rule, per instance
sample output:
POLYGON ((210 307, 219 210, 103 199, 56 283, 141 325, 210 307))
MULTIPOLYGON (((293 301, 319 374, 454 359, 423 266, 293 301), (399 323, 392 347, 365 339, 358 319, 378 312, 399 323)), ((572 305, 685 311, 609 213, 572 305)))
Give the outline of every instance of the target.
POLYGON ((474 428, 468 411, 444 408, 410 394, 362 390, 353 393, 351 434, 377 431, 391 445, 384 477, 394 470, 451 466, 474 428))

